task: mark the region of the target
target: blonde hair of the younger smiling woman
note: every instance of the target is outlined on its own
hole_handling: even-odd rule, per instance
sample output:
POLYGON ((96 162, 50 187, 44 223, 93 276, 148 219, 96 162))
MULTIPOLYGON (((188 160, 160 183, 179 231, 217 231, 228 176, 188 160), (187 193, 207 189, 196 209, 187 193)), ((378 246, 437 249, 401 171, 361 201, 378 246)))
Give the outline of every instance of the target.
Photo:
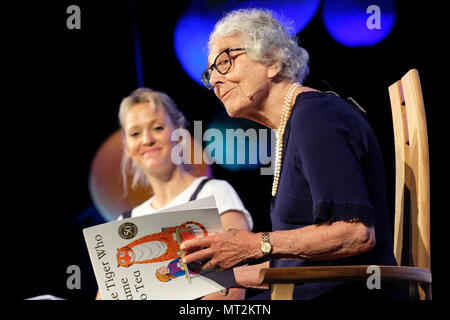
MULTIPOLYGON (((164 111, 169 116, 174 128, 187 128, 188 121, 186 120, 184 114, 178 109, 175 102, 164 92, 154 91, 149 88, 139 88, 133 91, 128 97, 124 98, 120 103, 119 108, 119 123, 122 132, 122 142, 123 148, 126 148, 126 132, 125 132, 125 118, 128 111, 135 105, 139 103, 149 103, 149 108, 156 111, 158 108, 163 108, 164 111)), ((125 150, 123 150, 122 162, 122 181, 123 189, 126 195, 128 181, 127 177, 130 174, 132 177, 131 187, 137 188, 138 186, 143 186, 147 188, 150 183, 145 176, 142 169, 140 169, 132 159, 127 157, 125 150)))

